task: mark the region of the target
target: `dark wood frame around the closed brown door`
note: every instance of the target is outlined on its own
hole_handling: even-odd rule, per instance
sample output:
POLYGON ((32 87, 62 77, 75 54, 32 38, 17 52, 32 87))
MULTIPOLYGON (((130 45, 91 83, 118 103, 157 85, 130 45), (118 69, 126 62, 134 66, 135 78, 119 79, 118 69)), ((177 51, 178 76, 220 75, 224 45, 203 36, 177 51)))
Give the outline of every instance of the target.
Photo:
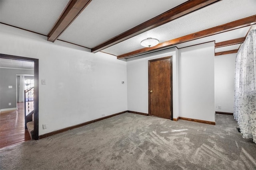
POLYGON ((164 59, 170 59, 171 64, 170 64, 170 80, 171 80, 171 90, 170 90, 170 96, 171 96, 171 120, 173 120, 173 102, 172 102, 172 98, 173 98, 173 93, 172 93, 172 55, 168 56, 168 57, 162 57, 162 58, 158 58, 158 59, 153 59, 153 60, 148 60, 148 115, 151 116, 151 109, 150 109, 150 104, 151 104, 151 99, 150 99, 150 62, 153 61, 158 61, 158 60, 164 60, 164 59))

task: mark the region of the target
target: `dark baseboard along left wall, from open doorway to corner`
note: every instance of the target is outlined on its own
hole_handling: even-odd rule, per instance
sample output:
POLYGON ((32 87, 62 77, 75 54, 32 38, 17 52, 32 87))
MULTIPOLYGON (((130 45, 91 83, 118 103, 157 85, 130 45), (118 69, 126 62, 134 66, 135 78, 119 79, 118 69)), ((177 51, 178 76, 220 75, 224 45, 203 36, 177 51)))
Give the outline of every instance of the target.
POLYGON ((74 125, 74 126, 70 126, 70 127, 66 127, 64 129, 60 129, 58 131, 53 131, 53 132, 50 132, 50 133, 46 133, 44 135, 40 135, 39 136, 39 139, 43 139, 45 137, 49 137, 49 136, 52 136, 52 135, 56 135, 58 133, 62 133, 62 132, 65 132, 65 131, 69 131, 71 129, 76 129, 78 127, 81 127, 81 126, 84 126, 84 125, 88 125, 90 123, 94 123, 96 121, 100 121, 100 120, 103 120, 103 119, 107 119, 107 118, 110 118, 110 117, 113 117, 113 116, 116 116, 116 115, 120 115, 120 114, 123 114, 123 113, 127 113, 127 110, 126 111, 122 111, 122 112, 119 112, 119 113, 115 113, 113 115, 108 115, 108 116, 105 116, 105 117, 101 117, 99 119, 94 119, 94 120, 91 120, 91 121, 87 121, 87 122, 84 122, 84 123, 81 123, 81 124, 78 124, 78 125, 74 125))

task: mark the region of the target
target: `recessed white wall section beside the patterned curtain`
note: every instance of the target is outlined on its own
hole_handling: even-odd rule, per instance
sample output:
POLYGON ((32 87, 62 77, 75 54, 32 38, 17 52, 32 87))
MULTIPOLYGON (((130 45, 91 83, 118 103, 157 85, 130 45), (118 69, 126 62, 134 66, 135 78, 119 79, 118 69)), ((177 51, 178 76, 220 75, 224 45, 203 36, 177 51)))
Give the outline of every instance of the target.
POLYGON ((215 111, 234 112, 234 74, 236 53, 214 58, 215 111), (218 106, 221 109, 218 109, 218 106))

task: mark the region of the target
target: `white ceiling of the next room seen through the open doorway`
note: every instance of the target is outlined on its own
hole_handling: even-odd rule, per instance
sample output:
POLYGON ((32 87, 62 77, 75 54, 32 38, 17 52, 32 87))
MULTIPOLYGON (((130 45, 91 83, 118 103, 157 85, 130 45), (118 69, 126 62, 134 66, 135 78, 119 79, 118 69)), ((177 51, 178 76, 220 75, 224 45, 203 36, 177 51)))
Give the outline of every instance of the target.
POLYGON ((34 62, 0 58, 0 68, 19 68, 34 70, 34 62))

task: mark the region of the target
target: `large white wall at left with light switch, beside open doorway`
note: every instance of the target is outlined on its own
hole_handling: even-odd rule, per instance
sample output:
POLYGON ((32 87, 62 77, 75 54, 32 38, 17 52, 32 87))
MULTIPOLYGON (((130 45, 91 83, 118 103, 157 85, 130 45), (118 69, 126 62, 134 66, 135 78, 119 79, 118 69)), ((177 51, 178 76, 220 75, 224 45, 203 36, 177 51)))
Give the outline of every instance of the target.
POLYGON ((0 53, 39 59, 39 135, 127 110, 125 61, 46 39, 0 24, 0 53))

